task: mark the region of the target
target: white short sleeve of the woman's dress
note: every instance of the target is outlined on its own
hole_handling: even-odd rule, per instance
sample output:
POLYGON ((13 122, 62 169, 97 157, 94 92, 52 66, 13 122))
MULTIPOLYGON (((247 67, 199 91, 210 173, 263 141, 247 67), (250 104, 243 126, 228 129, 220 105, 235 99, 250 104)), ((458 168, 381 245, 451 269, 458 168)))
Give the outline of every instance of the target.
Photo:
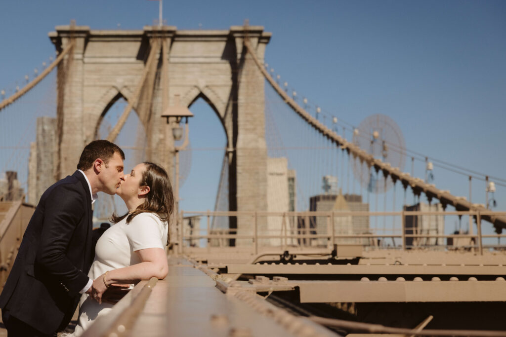
POLYGON ((126 237, 130 242, 132 251, 146 248, 163 249, 163 223, 154 214, 138 214, 125 225, 126 237))

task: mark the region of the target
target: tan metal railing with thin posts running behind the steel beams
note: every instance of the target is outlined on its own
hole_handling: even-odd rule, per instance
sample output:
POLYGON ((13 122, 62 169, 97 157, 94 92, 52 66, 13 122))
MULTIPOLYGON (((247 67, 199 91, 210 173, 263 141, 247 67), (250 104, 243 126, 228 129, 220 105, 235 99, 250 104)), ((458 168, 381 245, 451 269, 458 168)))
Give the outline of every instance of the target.
MULTIPOLYGON (((334 247, 336 244, 361 244, 364 249, 469 249, 478 250, 483 255, 484 248, 506 249, 506 245, 484 245, 484 239, 506 237, 506 234, 485 234, 482 230, 482 217, 504 216, 506 212, 493 211, 400 211, 400 212, 365 212, 365 211, 332 211, 332 212, 189 212, 181 211, 182 224, 173 231, 173 243, 178 245, 178 253, 189 248, 207 248, 227 246, 249 247, 252 253, 258 254, 262 249, 277 247, 282 250, 288 247, 334 247), (185 216, 206 218, 205 226, 189 228, 184 223, 185 216), (445 234, 437 227, 430 227, 434 217, 456 217, 459 221, 469 217, 467 233, 445 234), (212 228, 211 217, 228 217, 229 223, 238 223, 239 228, 212 228), (369 226, 371 219, 383 218, 384 225, 378 228, 369 226), (365 232, 353 232, 354 219, 366 221, 365 232), (387 219, 388 218, 388 219, 387 219), (277 219, 277 220, 276 220, 277 219), (400 219, 400 220, 399 220, 400 219), (420 224, 421 220, 429 222, 429 227, 420 224), (411 225, 409 225, 411 223, 411 225), (476 233, 474 232, 476 223, 476 233), (392 239, 392 246, 386 244, 392 239), (397 239, 397 241, 396 241, 397 239), (431 241, 432 240, 432 241, 431 241), (444 243, 446 240, 446 243, 444 243), (232 244, 233 242, 233 244, 232 244), (425 243, 424 243, 425 242, 425 243), (435 243, 435 244, 434 244, 435 243)), ((204 223, 204 221, 200 222, 204 223)), ((440 226, 440 225, 439 225, 440 226)))

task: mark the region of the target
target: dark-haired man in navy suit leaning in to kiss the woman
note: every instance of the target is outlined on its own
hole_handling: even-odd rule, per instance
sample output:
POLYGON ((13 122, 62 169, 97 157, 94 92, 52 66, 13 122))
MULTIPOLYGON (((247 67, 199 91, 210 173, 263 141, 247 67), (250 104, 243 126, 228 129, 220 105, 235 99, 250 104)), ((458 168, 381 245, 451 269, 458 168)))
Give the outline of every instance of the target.
POLYGON ((115 194, 123 160, 115 144, 92 141, 78 170, 40 198, 0 295, 9 337, 54 335, 67 326, 80 294, 91 294, 92 204, 97 192, 115 194))

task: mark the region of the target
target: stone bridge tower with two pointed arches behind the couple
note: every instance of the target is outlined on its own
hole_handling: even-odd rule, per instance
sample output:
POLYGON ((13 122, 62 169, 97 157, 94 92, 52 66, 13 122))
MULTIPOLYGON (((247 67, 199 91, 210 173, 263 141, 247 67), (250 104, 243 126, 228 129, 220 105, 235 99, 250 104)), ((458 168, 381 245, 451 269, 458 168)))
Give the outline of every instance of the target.
MULTIPOLYGON (((243 47, 244 38, 248 38, 257 57, 263 60, 271 37, 263 27, 177 30, 173 26, 146 26, 143 30, 90 30, 88 26, 57 26, 49 36, 58 51, 71 40, 75 45, 58 69, 52 159, 56 169, 39 174, 54 181, 75 170, 82 148, 96 138, 108 109, 121 97, 128 102, 133 99, 153 41, 158 39, 168 48, 156 55, 156 69, 148 71, 132 112, 138 114, 146 131, 147 159, 162 163, 173 172, 170 149, 174 141, 165 132, 162 101, 168 99, 168 104, 174 105, 179 95, 182 105, 190 107, 203 98, 216 112, 227 138, 230 210, 267 210, 264 78, 243 47), (160 71, 162 58, 168 67, 166 72, 160 71), (168 89, 164 89, 167 83, 168 89)), ((249 226, 240 220, 236 225, 239 232, 241 227, 249 226)), ((234 223, 231 227, 235 227, 234 223)))

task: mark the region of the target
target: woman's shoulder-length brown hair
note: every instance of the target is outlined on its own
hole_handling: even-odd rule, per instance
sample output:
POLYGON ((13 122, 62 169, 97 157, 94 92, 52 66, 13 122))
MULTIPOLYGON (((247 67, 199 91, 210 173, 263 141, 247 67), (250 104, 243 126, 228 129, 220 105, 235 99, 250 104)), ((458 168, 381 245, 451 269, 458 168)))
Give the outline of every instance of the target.
MULTIPOLYGON (((126 223, 141 213, 149 212, 155 213, 161 221, 169 223, 169 219, 174 210, 174 194, 172 191, 171 180, 168 178, 167 172, 160 166, 144 162, 146 170, 142 174, 140 186, 148 186, 149 192, 146 194, 144 203, 139 205, 132 213, 126 213, 122 216, 112 214, 111 222, 116 223, 126 217, 126 223)), ((168 245, 168 230, 167 230, 167 245, 168 245)))

